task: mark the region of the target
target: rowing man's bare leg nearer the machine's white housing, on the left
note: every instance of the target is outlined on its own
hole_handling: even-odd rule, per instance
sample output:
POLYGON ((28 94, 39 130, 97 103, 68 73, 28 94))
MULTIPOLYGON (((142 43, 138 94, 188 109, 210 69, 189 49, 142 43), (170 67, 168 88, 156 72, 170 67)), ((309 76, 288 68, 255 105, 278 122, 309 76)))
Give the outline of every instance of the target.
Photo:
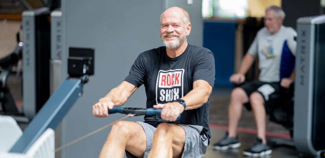
POLYGON ((136 157, 143 157, 146 147, 147 137, 140 124, 119 121, 113 124, 99 158, 123 158, 125 150, 136 157))

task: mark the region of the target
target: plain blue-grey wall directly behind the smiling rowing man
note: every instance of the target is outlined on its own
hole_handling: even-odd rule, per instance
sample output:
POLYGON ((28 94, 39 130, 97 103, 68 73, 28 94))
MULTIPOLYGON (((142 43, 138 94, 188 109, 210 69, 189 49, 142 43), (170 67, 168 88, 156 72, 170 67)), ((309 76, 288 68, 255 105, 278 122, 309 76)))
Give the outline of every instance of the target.
MULTIPOLYGON (((179 2, 183 1, 186 2, 179 2)), ((95 48, 95 75, 90 77, 83 96, 62 121, 62 144, 66 144, 125 116, 113 114, 108 118, 95 118, 92 106, 123 81, 139 53, 163 46, 159 38, 160 15, 167 3, 165 0, 62 0, 61 4, 62 79, 67 77, 65 59, 69 47, 95 48)), ((177 5, 187 9, 184 4, 177 5)), ((197 6, 201 7, 201 1, 197 6)), ((197 9, 201 17, 201 8, 197 9)), ((202 23, 196 25, 201 28, 192 29, 188 40, 190 44, 201 46, 202 23)), ((145 105, 144 86, 124 104, 125 107, 143 108, 145 105)), ((143 117, 126 120, 142 121, 143 117)), ((67 147, 62 157, 98 157, 109 131, 110 128, 102 130, 67 147)))

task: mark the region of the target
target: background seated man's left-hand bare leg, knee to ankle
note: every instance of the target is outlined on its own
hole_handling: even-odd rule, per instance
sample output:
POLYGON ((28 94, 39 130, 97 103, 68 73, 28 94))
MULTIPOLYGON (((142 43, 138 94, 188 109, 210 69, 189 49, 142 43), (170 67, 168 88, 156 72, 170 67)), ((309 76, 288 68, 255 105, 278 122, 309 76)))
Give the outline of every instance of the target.
POLYGON ((241 116, 242 105, 247 103, 248 96, 242 88, 235 88, 231 92, 228 118, 229 118, 229 127, 228 127, 228 136, 236 137, 237 125, 241 116))

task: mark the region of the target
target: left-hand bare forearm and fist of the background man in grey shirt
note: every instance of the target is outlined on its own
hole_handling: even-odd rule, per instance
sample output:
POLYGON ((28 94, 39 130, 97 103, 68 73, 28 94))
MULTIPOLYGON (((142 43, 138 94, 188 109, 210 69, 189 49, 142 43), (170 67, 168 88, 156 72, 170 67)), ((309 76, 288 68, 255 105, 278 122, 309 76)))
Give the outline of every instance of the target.
POLYGON ((230 76, 229 81, 235 84, 241 84, 245 81, 245 74, 248 69, 252 66, 255 57, 253 57, 249 52, 246 53, 243 61, 241 62, 240 69, 238 73, 235 73, 230 76))

